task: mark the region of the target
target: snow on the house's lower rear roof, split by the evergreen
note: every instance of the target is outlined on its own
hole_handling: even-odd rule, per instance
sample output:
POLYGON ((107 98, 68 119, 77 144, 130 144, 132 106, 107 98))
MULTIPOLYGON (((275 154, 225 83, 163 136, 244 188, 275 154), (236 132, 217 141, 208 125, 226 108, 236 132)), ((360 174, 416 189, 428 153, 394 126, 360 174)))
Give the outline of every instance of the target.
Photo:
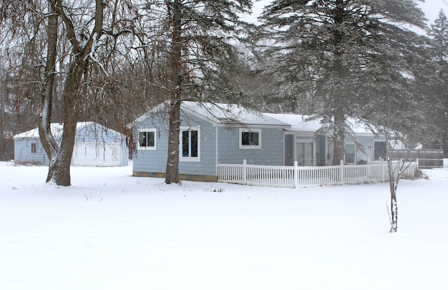
MULTIPOLYGON (((281 122, 285 122, 286 124, 290 124, 290 131, 316 132, 318 129, 322 128, 321 119, 307 120, 309 116, 306 115, 280 113, 263 113, 263 115, 267 115, 269 117, 279 119, 281 122)), ((353 133, 372 134, 372 131, 360 122, 356 122, 351 118, 347 119, 347 122, 350 124, 353 133)))

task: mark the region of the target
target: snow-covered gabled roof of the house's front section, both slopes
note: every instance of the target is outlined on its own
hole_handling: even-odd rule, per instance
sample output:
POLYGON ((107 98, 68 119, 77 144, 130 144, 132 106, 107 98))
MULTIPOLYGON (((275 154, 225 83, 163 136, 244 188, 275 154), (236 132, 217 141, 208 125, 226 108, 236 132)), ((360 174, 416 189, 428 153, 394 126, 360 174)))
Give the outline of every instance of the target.
MULTIPOLYGON (((167 103, 161 103, 148 113, 141 115, 135 121, 139 123, 157 113, 165 112, 167 103)), ((282 122, 279 119, 267 116, 262 113, 248 110, 239 105, 230 103, 201 103, 193 101, 183 101, 181 110, 193 114, 201 119, 205 119, 213 124, 245 124, 255 126, 281 126, 289 128, 290 124, 282 122)))

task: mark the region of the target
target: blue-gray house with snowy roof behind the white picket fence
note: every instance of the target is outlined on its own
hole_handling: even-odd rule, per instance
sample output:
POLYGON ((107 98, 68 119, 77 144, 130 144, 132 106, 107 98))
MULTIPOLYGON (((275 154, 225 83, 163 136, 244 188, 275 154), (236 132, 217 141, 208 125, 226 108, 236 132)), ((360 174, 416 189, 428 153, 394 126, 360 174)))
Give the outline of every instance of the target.
MULTIPOLYGON (((168 151, 166 103, 135 120, 133 175, 165 177, 168 151)), ((179 174, 183 180, 216 180, 217 164, 322 166, 330 164, 332 143, 317 135, 318 121, 294 114, 258 113, 235 104, 184 101, 181 105, 179 174)), ((347 164, 374 160, 384 140, 363 126, 346 137, 347 164), (376 143, 377 142, 377 143, 376 143), (382 142, 382 143, 381 143, 382 142), (377 146, 377 147, 375 147, 377 146)), ((378 153, 379 154, 379 153, 378 153)))

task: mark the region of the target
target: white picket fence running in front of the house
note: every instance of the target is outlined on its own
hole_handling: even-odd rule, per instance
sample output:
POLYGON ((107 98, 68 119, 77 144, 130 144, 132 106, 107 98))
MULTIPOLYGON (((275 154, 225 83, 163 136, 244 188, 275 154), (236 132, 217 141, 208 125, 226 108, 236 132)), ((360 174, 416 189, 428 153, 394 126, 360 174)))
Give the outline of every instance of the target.
MULTIPOLYGON (((395 161, 395 168, 402 162, 395 161)), ((416 160, 404 166, 403 177, 414 177, 419 171, 416 160)), ((388 180, 387 163, 372 162, 365 165, 339 166, 262 166, 246 164, 218 164, 218 182, 260 185, 268 187, 309 187, 334 184, 358 184, 388 180)))

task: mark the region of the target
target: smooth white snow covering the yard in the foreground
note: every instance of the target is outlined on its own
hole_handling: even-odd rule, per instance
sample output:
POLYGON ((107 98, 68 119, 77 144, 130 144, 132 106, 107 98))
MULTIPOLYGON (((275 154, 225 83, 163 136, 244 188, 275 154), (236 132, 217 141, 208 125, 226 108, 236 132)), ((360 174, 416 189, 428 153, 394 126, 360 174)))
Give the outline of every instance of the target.
POLYGON ((0 162, 0 289, 448 289, 448 168, 277 189, 0 162))

